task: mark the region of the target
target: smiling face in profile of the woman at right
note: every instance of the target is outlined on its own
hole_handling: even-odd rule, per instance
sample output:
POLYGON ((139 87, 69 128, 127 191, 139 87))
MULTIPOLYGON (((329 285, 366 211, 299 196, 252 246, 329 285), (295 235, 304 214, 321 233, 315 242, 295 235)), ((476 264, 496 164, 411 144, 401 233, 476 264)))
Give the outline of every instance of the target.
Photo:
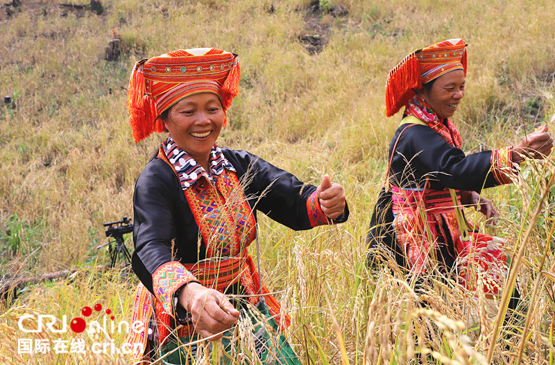
POLYGON ((436 78, 428 90, 418 90, 418 96, 434 109, 440 119, 452 117, 464 97, 464 72, 461 69, 447 72, 436 78))

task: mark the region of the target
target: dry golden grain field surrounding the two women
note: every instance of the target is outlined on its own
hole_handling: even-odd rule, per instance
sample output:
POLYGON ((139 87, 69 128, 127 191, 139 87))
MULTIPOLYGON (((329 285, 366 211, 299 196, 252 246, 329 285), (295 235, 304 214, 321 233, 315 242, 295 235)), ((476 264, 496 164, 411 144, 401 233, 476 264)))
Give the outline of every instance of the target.
MULTIPOLYGON (((135 180, 164 135, 133 143, 128 77, 137 60, 198 46, 241 62, 219 144, 306 182, 327 173, 348 196, 341 225, 295 232, 259 220, 262 278, 291 314, 302 364, 555 364, 554 161, 522 164, 515 184, 484 191, 501 212, 497 227, 466 212, 508 242, 504 293, 518 287, 522 301, 507 321, 506 298, 433 277, 418 294, 430 304, 419 307, 413 283, 394 264, 368 269, 365 253, 400 118, 385 117, 389 69, 462 37, 469 68, 454 122, 463 149, 516 144, 555 128, 555 1, 65 1, 0 4, 1 364, 128 362, 118 351, 125 331, 76 334, 60 321, 41 330, 37 319, 69 322, 97 304, 130 318, 137 278, 123 260, 103 269, 108 253, 96 246, 107 242, 104 222, 133 216, 135 180)), ((219 364, 214 354, 198 364, 219 364)))

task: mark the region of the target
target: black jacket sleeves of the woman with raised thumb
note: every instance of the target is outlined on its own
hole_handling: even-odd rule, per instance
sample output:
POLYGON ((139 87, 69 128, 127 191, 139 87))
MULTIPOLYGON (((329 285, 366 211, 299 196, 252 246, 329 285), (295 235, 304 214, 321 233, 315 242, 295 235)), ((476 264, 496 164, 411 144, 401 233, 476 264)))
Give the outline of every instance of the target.
MULTIPOLYGON (((291 173, 247 151, 221 150, 237 170, 255 217, 257 211, 263 212, 293 230, 315 226, 309 207, 316 187, 304 185, 291 173)), ((163 264, 171 261, 194 264, 205 259, 205 242, 200 239, 200 247, 197 246, 198 226, 176 173, 167 162, 160 158, 148 162, 135 185, 133 213, 133 270, 149 291, 153 292, 153 273, 163 264)), ((345 214, 334 223, 347 219, 345 206, 345 214)))

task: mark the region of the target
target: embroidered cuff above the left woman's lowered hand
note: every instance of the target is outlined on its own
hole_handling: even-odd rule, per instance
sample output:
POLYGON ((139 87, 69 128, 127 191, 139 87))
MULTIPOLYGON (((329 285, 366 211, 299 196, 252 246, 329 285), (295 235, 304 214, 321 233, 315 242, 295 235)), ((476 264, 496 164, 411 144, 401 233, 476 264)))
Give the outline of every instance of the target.
POLYGON ((177 261, 166 262, 152 274, 152 287, 156 298, 168 314, 173 314, 173 293, 187 282, 198 280, 177 261))

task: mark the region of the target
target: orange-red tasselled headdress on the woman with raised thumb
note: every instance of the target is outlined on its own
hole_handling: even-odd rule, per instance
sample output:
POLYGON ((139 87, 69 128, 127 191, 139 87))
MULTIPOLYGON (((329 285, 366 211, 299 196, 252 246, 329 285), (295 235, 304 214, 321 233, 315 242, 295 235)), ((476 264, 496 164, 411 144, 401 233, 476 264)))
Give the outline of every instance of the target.
MULTIPOLYGON (((137 62, 127 95, 135 143, 153 132, 164 132, 160 114, 187 96, 212 92, 227 111, 239 94, 240 75, 237 55, 215 48, 178 49, 137 62)), ((227 119, 226 113, 224 126, 227 119)))

